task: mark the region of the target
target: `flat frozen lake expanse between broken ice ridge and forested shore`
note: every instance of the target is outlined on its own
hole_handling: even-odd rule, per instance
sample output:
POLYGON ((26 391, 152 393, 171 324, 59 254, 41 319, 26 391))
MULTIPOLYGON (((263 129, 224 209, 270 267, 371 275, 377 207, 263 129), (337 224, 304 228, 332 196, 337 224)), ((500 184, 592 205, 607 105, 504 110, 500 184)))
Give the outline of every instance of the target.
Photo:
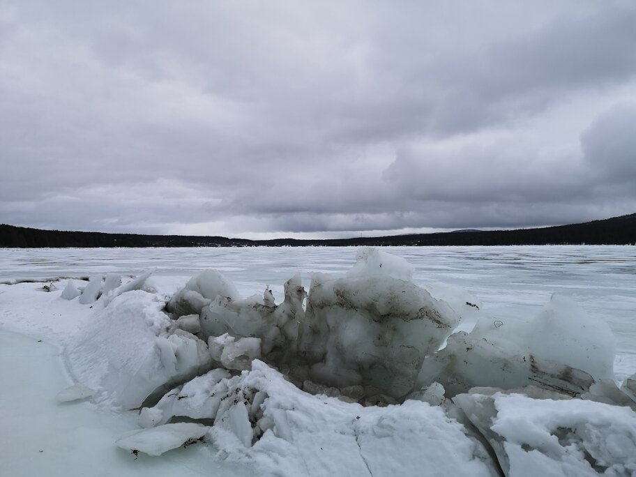
MULTIPOLYGON (((636 248, 633 246, 394 247, 415 266, 418 285, 443 296, 461 287, 492 317, 529 317, 554 293, 571 296, 590 315, 605 319, 619 354, 636 354, 636 248)), ((176 280, 216 268, 239 291, 262 294, 294 273, 309 285, 309 272, 344 272, 356 248, 95 248, 0 249, 0 282, 116 272, 176 280)), ((179 280, 176 280, 179 281, 179 280)))

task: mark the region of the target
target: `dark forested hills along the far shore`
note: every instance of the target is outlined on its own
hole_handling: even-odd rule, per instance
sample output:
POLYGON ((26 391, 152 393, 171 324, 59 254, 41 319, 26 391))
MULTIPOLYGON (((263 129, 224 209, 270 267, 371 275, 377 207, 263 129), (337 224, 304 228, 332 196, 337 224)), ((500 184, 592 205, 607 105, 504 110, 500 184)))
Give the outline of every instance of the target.
POLYGON ((251 241, 220 236, 179 236, 65 232, 0 225, 0 247, 250 247, 347 245, 636 245, 636 213, 582 224, 539 229, 462 230, 356 239, 251 241))

